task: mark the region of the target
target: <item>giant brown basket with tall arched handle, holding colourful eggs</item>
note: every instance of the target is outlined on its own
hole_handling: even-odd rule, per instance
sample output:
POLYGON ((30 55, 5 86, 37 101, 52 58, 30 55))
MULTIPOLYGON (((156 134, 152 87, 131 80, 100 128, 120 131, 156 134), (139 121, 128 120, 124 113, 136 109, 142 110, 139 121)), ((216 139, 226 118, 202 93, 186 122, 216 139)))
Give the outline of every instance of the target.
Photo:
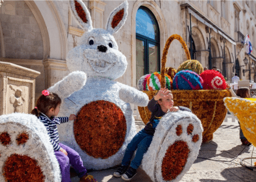
MULTIPOLYGON (((179 35, 172 35, 168 38, 163 49, 162 68, 161 68, 161 87, 165 87, 165 64, 168 54, 169 45, 177 39, 181 44, 187 59, 190 58, 188 47, 179 35)), ((158 90, 143 91, 152 99, 158 90)), ((213 133, 221 126, 227 114, 227 109, 224 106, 223 98, 231 96, 228 90, 172 90, 174 98, 174 106, 185 106, 192 110, 192 112, 201 120, 204 128, 203 143, 213 140, 213 133)), ((146 124, 151 118, 151 112, 148 107, 138 107, 141 119, 146 124)))

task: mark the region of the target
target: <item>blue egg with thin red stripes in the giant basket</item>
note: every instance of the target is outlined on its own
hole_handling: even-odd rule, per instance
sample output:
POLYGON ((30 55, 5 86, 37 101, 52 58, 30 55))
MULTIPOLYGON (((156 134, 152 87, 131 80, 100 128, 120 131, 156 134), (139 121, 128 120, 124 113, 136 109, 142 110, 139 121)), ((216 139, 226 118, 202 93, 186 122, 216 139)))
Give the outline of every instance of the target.
POLYGON ((202 89, 203 79, 191 70, 177 72, 173 78, 173 89, 179 90, 200 90, 202 89))

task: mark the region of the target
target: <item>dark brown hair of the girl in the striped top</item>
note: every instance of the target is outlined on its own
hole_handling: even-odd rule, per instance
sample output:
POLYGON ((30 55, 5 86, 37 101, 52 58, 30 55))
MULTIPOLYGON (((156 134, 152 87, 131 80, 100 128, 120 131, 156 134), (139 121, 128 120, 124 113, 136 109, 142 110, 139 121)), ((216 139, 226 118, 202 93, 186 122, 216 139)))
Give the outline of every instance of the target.
POLYGON ((56 109, 56 107, 61 103, 62 99, 60 99, 56 93, 50 92, 47 96, 42 94, 35 104, 35 107, 37 108, 34 108, 31 113, 36 116, 39 116, 40 112, 46 114, 50 109, 56 109))

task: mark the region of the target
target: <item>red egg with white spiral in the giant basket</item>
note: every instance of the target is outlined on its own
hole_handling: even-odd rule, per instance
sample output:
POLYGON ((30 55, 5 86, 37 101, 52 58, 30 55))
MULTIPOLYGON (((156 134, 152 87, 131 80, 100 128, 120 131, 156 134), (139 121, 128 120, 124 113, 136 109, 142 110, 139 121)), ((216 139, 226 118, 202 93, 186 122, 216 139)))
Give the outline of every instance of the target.
POLYGON ((204 80, 203 87, 205 90, 224 90, 226 89, 226 81, 224 76, 215 70, 205 70, 200 75, 204 80))

